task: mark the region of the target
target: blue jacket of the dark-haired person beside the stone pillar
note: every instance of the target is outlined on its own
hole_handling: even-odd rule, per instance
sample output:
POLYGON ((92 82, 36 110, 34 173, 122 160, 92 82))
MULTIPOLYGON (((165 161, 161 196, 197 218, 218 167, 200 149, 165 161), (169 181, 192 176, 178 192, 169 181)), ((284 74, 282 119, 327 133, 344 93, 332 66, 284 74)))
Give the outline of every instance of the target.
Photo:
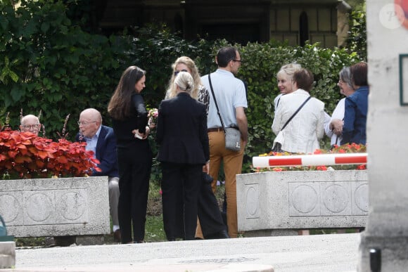
POLYGON ((368 98, 369 86, 361 86, 355 93, 345 98, 342 145, 345 143, 366 144, 368 98))

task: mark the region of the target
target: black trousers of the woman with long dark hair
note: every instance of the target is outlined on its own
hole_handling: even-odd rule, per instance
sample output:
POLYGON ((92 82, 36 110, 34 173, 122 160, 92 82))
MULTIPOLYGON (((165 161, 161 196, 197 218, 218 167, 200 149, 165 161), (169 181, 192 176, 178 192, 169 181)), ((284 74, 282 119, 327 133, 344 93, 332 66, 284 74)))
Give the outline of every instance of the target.
POLYGON ((122 244, 144 240, 153 157, 147 141, 146 144, 139 144, 134 148, 117 148, 120 178, 120 196, 117 209, 122 244))

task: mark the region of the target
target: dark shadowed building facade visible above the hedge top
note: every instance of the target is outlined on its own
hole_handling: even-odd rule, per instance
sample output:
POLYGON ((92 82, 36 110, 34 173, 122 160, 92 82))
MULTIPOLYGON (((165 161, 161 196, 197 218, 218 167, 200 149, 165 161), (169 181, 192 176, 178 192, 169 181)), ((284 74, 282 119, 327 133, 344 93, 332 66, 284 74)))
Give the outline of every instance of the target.
POLYGON ((350 6, 339 0, 100 0, 104 32, 165 23, 185 39, 227 39, 246 44, 269 39, 290 45, 342 46, 350 6))

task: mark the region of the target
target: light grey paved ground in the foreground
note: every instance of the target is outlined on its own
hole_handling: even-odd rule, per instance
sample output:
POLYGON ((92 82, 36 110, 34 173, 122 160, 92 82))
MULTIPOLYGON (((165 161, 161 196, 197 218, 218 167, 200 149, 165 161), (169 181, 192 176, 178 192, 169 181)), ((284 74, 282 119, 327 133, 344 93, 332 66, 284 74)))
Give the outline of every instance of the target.
POLYGON ((357 269, 359 237, 352 233, 17 249, 15 268, 1 272, 349 272, 357 269))

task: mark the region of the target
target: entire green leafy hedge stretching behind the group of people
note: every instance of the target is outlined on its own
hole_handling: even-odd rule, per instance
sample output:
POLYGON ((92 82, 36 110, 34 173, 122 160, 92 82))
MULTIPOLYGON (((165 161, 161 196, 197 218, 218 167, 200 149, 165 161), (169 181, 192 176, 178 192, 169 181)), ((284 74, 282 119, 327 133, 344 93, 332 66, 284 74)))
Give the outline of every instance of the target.
MULTIPOLYGON (((153 25, 110 37, 89 34, 68 18, 67 11, 62 1, 23 0, 16 10, 11 1, 0 2, 1 123, 9 112, 9 124, 17 129, 20 110, 24 115, 42 110, 46 136, 58 138, 57 132, 70 114, 67 131, 68 139, 73 139, 84 108, 100 110, 104 123, 110 124, 106 107, 129 65, 147 71, 144 98, 149 108, 157 108, 176 58, 190 56, 205 75, 216 69, 217 49, 227 45, 225 40, 185 41, 165 27, 153 25)), ((248 84, 247 170, 250 157, 272 146, 272 103, 279 93, 276 72, 281 65, 296 61, 310 69, 316 80, 312 95, 324 101, 331 113, 340 99, 338 72, 361 58, 346 48, 320 48, 318 44, 297 47, 271 41, 235 46, 244 60, 237 77, 248 84)))

